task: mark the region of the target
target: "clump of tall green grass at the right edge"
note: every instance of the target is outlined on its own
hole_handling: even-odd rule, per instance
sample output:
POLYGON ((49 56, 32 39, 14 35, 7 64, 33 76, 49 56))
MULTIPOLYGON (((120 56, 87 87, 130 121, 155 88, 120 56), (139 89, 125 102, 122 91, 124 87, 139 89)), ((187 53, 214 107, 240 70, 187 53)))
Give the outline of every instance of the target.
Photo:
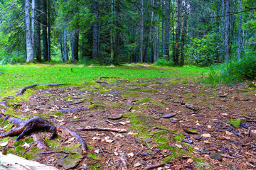
POLYGON ((217 84, 235 84, 245 79, 256 79, 256 57, 230 60, 210 68, 206 81, 213 86, 217 84))

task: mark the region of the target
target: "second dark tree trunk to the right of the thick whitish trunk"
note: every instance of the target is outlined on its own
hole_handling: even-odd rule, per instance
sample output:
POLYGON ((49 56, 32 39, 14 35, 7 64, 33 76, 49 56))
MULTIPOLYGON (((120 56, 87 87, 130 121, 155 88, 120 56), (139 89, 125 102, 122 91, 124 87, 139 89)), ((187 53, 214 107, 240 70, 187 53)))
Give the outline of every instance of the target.
POLYGON ((48 60, 48 38, 47 38, 47 1, 43 0, 43 16, 42 16, 42 39, 43 39, 43 60, 48 60))

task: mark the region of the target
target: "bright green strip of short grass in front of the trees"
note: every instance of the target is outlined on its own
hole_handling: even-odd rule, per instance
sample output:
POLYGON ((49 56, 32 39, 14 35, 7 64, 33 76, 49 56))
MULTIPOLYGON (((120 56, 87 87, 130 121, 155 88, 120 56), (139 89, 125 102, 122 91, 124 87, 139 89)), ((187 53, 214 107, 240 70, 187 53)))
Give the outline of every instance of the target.
POLYGON ((99 77, 116 77, 129 81, 156 78, 188 79, 199 77, 206 72, 208 68, 153 67, 139 64, 119 67, 85 67, 74 64, 3 65, 0 66, 0 94, 31 84, 83 83, 95 81, 99 77))

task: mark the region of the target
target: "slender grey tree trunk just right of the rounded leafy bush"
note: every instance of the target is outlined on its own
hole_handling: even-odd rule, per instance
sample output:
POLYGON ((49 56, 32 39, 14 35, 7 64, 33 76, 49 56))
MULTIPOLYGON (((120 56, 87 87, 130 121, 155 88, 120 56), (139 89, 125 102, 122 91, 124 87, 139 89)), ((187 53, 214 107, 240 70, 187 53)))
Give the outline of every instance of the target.
POLYGON ((225 62, 230 60, 230 0, 225 2, 225 62))

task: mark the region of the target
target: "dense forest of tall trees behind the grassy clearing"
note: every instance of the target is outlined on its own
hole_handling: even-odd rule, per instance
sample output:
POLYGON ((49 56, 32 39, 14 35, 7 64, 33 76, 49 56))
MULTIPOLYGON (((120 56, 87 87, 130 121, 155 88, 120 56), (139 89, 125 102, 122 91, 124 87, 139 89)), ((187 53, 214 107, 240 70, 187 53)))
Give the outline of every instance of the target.
POLYGON ((209 65, 255 55, 253 0, 0 0, 0 61, 209 65))

